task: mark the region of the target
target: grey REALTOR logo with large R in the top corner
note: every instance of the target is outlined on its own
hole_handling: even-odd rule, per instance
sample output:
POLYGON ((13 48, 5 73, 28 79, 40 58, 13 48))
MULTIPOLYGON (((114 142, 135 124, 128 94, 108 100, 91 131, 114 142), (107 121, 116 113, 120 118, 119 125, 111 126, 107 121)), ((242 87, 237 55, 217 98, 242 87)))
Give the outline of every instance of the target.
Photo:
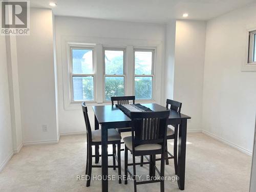
POLYGON ((1 35, 29 35, 29 1, 1 1, 1 35))

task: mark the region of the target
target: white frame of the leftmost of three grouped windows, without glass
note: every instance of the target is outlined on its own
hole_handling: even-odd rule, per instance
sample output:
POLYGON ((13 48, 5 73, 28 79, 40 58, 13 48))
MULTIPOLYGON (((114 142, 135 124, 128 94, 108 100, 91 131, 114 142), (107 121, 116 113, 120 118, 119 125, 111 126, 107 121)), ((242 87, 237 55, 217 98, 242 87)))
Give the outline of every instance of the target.
POLYGON ((82 101, 86 101, 88 103, 96 102, 96 79, 95 79, 95 58, 96 51, 95 46, 89 45, 69 45, 69 76, 70 76, 70 102, 71 103, 81 103, 82 101), (73 58, 72 58, 72 50, 73 49, 81 49, 81 50, 92 50, 93 54, 93 73, 92 74, 74 74, 73 73, 73 58), (74 100, 74 87, 73 87, 73 77, 93 77, 93 100, 74 100))

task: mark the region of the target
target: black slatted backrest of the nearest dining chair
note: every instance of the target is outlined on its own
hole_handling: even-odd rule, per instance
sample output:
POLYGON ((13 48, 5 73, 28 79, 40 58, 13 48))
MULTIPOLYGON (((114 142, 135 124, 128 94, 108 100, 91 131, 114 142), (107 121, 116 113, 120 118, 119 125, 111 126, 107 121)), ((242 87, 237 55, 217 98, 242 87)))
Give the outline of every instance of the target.
POLYGON ((133 151, 140 144, 161 144, 164 150, 169 113, 131 112, 133 151))

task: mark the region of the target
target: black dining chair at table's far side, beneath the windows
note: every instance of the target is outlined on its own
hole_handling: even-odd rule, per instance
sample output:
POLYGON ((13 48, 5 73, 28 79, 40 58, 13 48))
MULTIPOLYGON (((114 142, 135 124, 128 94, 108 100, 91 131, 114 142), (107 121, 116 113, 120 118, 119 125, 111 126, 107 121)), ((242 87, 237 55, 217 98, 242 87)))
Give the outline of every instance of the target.
MULTIPOLYGON (((112 106, 114 106, 114 103, 116 104, 129 104, 129 101, 131 101, 131 104, 135 103, 135 96, 119 96, 119 97, 111 97, 111 103, 112 106)), ((132 128, 131 127, 124 127, 124 128, 117 128, 116 129, 118 133, 123 133, 123 132, 131 132, 132 128)), ((123 142, 122 142, 123 143, 123 142)))

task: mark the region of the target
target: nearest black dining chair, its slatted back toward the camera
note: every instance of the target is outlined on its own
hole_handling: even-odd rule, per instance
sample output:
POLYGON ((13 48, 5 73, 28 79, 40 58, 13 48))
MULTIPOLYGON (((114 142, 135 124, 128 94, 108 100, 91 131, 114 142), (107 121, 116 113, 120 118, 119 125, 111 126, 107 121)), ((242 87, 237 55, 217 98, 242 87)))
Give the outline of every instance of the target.
POLYGON ((164 191, 164 160, 166 148, 166 131, 169 111, 162 112, 131 112, 132 136, 123 138, 125 144, 124 150, 124 184, 127 184, 128 173, 134 180, 134 191, 137 191, 138 184, 160 182, 160 191, 164 191), (128 151, 133 156, 133 163, 128 163, 128 151), (136 180, 136 156, 150 155, 150 180, 136 180), (156 155, 161 155, 160 171, 156 167, 156 155), (128 168, 133 166, 133 174, 128 168), (155 171, 161 179, 154 179, 155 171))

